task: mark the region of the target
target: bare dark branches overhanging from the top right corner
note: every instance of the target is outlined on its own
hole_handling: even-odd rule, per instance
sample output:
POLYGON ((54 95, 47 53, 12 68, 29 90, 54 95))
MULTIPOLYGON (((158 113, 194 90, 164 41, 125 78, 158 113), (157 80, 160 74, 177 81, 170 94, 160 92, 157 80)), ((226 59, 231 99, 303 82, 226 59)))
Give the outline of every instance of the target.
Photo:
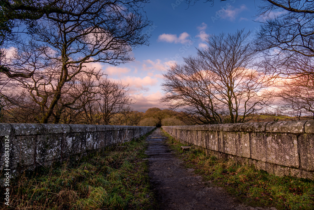
POLYGON ((263 0, 258 14, 261 30, 255 44, 256 49, 264 53, 262 65, 274 76, 311 73, 295 67, 299 61, 314 57, 313 14, 312 1, 263 0))

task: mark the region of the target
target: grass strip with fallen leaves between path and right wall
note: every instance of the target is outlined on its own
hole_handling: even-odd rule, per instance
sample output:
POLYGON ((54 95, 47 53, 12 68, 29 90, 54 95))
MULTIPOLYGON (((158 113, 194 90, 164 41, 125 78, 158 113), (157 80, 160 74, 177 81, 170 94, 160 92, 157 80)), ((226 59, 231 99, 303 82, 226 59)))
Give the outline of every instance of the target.
POLYGON ((195 173, 202 175, 204 181, 212 180, 244 203, 277 209, 314 209, 313 180, 275 176, 232 160, 206 156, 195 148, 183 152, 182 144, 166 135, 169 137, 168 144, 187 167, 195 168, 195 173))

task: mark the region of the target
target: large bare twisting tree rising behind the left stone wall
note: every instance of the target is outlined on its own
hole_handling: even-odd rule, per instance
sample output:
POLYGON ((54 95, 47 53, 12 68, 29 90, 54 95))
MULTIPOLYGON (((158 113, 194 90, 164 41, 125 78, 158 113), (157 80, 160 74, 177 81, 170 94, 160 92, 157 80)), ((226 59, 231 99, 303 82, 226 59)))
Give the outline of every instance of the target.
MULTIPOLYGON (((86 94, 69 92, 77 77, 100 77, 100 71, 86 68, 88 63, 105 62, 118 65, 133 60, 132 48, 147 44, 148 37, 141 33, 150 24, 140 13, 146 0, 60 0, 58 8, 71 11, 43 16, 37 28, 30 33, 28 45, 17 46, 14 59, 6 63, 11 85, 26 88, 40 107, 41 123, 51 117, 60 120, 62 110, 74 107, 76 100, 86 94), (70 96, 72 100, 62 99, 70 96), (75 96, 75 94, 77 94, 75 96)), ((82 86, 84 87, 84 85, 82 86)), ((7 94, 8 89, 3 91, 7 94)))

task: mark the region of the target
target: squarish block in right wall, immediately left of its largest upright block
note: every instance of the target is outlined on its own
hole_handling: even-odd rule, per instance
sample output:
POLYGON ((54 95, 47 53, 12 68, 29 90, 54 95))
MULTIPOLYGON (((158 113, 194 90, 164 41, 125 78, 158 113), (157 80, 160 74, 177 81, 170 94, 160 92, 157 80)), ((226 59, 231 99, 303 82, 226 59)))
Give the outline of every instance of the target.
POLYGON ((249 133, 219 131, 219 151, 250 158, 249 133))

